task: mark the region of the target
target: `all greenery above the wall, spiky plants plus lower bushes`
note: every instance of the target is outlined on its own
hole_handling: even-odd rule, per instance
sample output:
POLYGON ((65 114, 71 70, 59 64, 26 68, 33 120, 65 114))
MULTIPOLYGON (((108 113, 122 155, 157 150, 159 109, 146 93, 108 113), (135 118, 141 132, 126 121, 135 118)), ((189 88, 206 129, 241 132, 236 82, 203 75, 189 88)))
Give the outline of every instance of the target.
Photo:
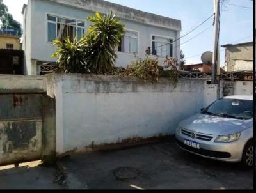
POLYGON ((54 40, 58 49, 52 57, 58 57, 57 63, 62 72, 138 77, 152 83, 166 77, 174 84, 178 82, 178 59, 166 56, 164 66, 159 66, 158 58, 152 58, 147 51, 145 59, 136 59, 127 68, 116 68, 116 47, 125 33, 124 25, 112 12, 104 17, 95 13, 88 20, 92 25, 81 40, 54 40))

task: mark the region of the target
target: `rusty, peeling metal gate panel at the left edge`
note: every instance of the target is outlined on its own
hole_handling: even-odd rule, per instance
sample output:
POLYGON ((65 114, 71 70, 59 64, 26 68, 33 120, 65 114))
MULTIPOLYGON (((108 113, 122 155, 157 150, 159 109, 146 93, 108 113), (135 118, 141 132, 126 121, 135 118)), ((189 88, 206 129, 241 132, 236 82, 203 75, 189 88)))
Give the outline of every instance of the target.
POLYGON ((40 94, 0 94, 0 165, 41 158, 42 100, 40 94))

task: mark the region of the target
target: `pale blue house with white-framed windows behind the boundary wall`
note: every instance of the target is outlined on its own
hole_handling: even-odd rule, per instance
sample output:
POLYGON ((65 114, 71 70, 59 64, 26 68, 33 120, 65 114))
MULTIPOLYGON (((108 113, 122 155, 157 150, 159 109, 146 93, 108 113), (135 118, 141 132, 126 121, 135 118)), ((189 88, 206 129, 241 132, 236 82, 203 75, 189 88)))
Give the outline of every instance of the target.
POLYGON ((22 9, 27 74, 39 75, 42 63, 56 61, 56 58, 51 58, 56 50, 52 40, 76 33, 82 36, 90 25, 87 17, 95 12, 110 13, 111 10, 122 19, 127 31, 116 48, 116 66, 126 67, 136 56, 144 58, 148 47, 152 47, 153 55, 159 56, 160 64, 163 64, 166 55, 179 59, 180 20, 102 0, 29 0, 22 9))

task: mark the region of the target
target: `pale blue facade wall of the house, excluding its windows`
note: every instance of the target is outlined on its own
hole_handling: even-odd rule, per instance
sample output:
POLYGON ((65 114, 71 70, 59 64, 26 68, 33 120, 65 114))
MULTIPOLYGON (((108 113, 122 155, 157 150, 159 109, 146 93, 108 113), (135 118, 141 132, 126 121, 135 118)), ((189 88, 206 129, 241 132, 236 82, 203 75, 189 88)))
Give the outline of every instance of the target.
MULTIPOLYGON (((24 47, 26 52, 26 66, 28 75, 37 75, 35 61, 54 62, 56 58, 51 55, 56 47, 47 42, 47 14, 65 17, 68 19, 84 20, 86 30, 90 26, 87 18, 96 11, 109 13, 111 10, 121 18, 126 29, 138 31, 138 57, 145 58, 145 50, 152 46, 152 35, 165 36, 177 40, 180 37, 180 20, 161 17, 150 13, 140 12, 124 6, 119 6, 106 1, 45 1, 29 0, 24 17, 26 30, 24 32, 24 47), (31 17, 33 15, 33 17, 31 17), (40 25, 38 25, 40 24, 40 25), (31 30, 31 28, 33 30, 31 30), (38 38, 40 37, 40 38, 38 38)), ((180 56, 180 40, 173 43, 173 57, 180 56)), ((134 54, 117 52, 116 66, 127 67, 136 58, 134 54)), ((159 58, 163 65, 164 58, 159 58)))

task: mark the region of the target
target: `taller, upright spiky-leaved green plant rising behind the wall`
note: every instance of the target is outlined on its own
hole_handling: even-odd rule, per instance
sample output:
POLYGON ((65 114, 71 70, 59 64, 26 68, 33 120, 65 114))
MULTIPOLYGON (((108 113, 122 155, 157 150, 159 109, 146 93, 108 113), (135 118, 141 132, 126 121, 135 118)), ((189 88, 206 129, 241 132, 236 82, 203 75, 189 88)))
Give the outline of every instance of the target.
POLYGON ((89 26, 88 33, 82 40, 87 66, 92 73, 110 73, 117 58, 116 47, 125 33, 124 25, 120 24, 120 19, 113 12, 104 17, 96 12, 88 20, 93 24, 89 26))

